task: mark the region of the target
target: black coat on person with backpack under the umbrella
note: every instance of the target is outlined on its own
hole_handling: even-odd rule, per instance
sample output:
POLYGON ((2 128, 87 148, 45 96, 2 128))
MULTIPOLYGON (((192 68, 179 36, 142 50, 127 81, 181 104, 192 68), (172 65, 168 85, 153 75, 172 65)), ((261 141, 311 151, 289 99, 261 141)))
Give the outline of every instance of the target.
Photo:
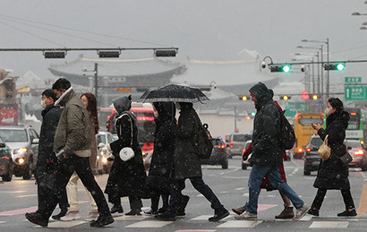
POLYGON ((180 111, 175 138, 175 179, 202 176, 201 159, 195 149, 199 131, 199 121, 192 105, 180 111))

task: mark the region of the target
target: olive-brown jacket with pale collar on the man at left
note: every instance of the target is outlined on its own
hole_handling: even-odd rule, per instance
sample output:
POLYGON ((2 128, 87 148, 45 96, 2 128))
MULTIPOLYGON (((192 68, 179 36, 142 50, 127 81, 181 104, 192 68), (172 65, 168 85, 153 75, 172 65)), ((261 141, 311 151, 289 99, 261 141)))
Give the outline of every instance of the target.
POLYGON ((64 150, 66 155, 90 157, 93 135, 87 108, 72 87, 55 102, 55 106, 57 103, 64 108, 55 133, 54 151, 64 150))

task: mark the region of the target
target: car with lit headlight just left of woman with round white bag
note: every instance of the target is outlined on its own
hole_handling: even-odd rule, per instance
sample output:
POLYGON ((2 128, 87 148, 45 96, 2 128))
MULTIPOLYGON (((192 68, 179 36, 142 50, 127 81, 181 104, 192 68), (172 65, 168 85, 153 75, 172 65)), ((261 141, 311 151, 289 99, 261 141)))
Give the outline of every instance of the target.
POLYGON ((112 153, 107 149, 107 144, 114 142, 114 135, 109 132, 98 132, 96 134, 98 152, 97 152, 97 171, 99 175, 109 173, 112 166, 112 153))

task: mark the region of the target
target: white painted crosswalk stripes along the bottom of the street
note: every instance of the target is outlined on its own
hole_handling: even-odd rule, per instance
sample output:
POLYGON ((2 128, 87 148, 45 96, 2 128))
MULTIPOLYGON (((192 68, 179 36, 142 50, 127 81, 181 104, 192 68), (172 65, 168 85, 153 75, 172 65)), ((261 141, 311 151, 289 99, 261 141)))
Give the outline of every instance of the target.
MULTIPOLYGON (((226 231, 226 228, 260 228, 262 224, 272 225, 272 223, 277 222, 277 227, 279 226, 278 222, 284 223, 295 223, 294 228, 348 228, 351 223, 363 222, 367 221, 364 217, 356 217, 356 218, 337 218, 337 217, 313 217, 312 215, 305 215, 303 219, 300 221, 292 221, 292 219, 271 219, 271 220, 236 220, 235 214, 231 212, 231 214, 226 217, 226 219, 222 219, 218 223, 208 222, 209 217, 212 215, 201 215, 192 219, 183 218, 177 219, 176 221, 160 221, 158 219, 154 219, 151 216, 141 215, 141 216, 117 216, 114 217, 115 223, 111 224, 108 227, 112 228, 162 228, 177 223, 181 220, 180 224, 185 223, 186 225, 197 225, 194 222, 207 222, 210 225, 210 228, 205 229, 177 229, 177 227, 173 228, 173 230, 165 230, 165 231, 173 231, 173 232, 211 232, 211 231, 226 231), (124 223, 121 223, 124 222, 124 223), (307 225, 305 225, 307 223, 307 225), (296 226, 297 225, 297 226, 296 226)), ((24 221, 27 221, 24 219, 24 221)), ((0 221, 0 223, 5 223, 5 221, 0 221)), ((77 226, 81 226, 82 224, 88 225, 89 222, 83 220, 73 220, 73 221, 59 221, 59 220, 50 220, 48 224, 48 228, 73 228, 77 226)), ((187 228, 185 225, 185 228, 187 228)), ((204 225, 204 223, 203 223, 204 225)), ((281 227, 281 224, 280 224, 281 227)), ((39 226, 34 226, 33 228, 41 228, 39 226)))

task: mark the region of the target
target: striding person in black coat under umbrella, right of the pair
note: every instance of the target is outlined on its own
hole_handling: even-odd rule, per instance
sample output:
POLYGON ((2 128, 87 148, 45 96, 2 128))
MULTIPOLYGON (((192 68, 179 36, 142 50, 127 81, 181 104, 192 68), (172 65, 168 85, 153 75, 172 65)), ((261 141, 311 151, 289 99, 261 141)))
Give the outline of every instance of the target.
POLYGON ((211 203, 214 216, 209 221, 218 221, 226 218, 229 212, 219 202, 218 197, 206 185, 202 179, 201 159, 196 147, 198 144, 198 132, 201 124, 199 116, 190 102, 177 102, 180 109, 178 125, 176 128, 175 157, 174 157, 174 181, 171 186, 171 198, 165 213, 158 216, 159 220, 175 220, 176 212, 183 202, 184 181, 190 179, 192 186, 211 203))

